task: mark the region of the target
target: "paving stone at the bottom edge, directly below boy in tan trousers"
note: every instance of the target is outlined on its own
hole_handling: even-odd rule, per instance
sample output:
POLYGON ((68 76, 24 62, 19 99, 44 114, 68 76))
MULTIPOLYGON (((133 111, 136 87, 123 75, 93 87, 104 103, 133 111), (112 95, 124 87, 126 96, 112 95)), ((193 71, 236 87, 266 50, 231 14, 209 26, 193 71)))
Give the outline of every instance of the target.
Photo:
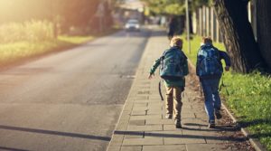
POLYGON ((143 151, 186 151, 186 146, 143 146, 143 151))

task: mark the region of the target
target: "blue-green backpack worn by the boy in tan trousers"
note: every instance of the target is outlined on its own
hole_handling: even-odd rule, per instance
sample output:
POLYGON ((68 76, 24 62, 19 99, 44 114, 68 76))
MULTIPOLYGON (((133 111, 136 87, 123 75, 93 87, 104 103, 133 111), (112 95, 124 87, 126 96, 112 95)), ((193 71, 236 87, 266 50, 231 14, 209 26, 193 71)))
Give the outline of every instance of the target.
POLYGON ((180 49, 173 47, 161 57, 160 77, 164 80, 181 80, 187 75, 184 71, 186 56, 180 49))

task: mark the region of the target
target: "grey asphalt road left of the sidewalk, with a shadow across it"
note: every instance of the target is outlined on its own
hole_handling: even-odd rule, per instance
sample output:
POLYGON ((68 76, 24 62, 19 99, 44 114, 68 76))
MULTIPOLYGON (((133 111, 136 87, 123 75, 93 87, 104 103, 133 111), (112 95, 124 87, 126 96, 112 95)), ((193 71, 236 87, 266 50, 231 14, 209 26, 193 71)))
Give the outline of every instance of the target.
POLYGON ((0 72, 0 150, 106 150, 150 32, 124 31, 0 72))

